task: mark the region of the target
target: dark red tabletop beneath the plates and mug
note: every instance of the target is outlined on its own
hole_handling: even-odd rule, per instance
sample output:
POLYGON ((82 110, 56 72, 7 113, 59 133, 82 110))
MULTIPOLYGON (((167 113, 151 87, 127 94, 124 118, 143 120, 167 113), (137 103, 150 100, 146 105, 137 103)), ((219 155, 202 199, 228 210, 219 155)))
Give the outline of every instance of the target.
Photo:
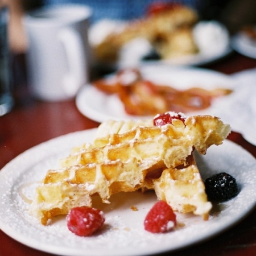
MULTIPOLYGON (((0 117, 0 169, 23 151, 63 134, 97 127, 99 123, 84 117, 77 110, 75 101, 41 102, 34 100, 27 91, 26 69, 23 56, 16 56, 15 108, 0 117)), ((256 60, 238 53, 226 57, 206 68, 226 74, 256 67, 256 60)), ((255 118, 255 117, 254 117, 255 118)), ((238 133, 229 139, 240 144, 256 157, 256 147, 246 142, 238 133)), ((1 256, 49 255, 14 241, 0 230, 1 256)), ((166 254, 167 255, 167 254, 166 254)), ((256 255, 256 210, 240 224, 230 228, 210 241, 172 253, 174 256, 253 256, 256 255)))

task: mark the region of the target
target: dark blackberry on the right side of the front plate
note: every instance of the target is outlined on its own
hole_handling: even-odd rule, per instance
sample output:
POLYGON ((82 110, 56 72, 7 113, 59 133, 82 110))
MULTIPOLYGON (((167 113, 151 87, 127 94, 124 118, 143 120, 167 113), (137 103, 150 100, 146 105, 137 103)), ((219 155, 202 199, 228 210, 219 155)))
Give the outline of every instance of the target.
POLYGON ((205 180, 205 192, 210 200, 227 201, 238 194, 237 182, 225 172, 205 180))

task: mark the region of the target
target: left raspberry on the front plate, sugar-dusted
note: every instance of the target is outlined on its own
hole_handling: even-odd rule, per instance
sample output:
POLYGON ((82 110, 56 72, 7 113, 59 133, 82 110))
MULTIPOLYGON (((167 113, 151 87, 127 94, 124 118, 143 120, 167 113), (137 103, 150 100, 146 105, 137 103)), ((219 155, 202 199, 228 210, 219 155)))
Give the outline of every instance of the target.
POLYGON ((91 207, 75 207, 67 215, 68 229, 77 236, 90 236, 101 228, 105 215, 101 210, 91 207))

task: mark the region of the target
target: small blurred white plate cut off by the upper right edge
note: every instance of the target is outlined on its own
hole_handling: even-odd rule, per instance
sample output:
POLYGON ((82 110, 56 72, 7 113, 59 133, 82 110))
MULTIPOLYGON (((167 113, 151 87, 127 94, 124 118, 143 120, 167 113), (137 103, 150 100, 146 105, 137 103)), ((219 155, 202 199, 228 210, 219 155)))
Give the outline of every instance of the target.
POLYGON ((256 42, 245 34, 238 33, 234 35, 231 40, 231 46, 242 55, 256 59, 256 42))

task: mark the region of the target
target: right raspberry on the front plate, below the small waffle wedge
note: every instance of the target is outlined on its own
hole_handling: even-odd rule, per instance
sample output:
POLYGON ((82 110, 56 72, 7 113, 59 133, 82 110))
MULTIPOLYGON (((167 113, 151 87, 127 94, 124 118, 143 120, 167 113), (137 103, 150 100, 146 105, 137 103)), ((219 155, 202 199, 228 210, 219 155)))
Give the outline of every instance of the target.
POLYGON ((144 220, 144 229, 151 233, 164 233, 174 226, 176 214, 165 201, 158 201, 144 220))

